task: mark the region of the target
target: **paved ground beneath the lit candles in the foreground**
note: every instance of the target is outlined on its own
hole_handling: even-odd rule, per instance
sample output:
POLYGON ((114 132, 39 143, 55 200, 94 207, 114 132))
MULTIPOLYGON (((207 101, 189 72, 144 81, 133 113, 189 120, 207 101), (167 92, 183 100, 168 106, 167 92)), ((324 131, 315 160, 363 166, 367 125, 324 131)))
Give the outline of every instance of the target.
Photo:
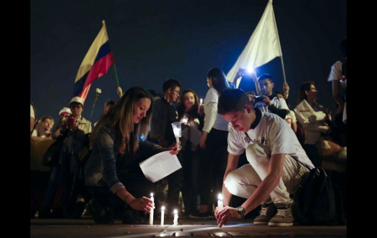
POLYGON ((269 227, 254 225, 252 220, 234 221, 218 228, 215 220, 179 220, 178 226, 160 219, 153 226, 125 225, 116 220, 112 225, 96 225, 91 219, 30 219, 31 238, 152 238, 152 237, 346 237, 347 226, 269 227))

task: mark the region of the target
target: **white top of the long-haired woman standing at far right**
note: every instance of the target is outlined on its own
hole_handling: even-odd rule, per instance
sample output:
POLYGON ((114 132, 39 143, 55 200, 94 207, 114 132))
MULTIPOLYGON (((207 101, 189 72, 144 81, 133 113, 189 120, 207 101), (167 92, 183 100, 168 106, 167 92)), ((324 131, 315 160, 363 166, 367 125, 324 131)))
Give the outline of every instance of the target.
POLYGON ((327 120, 326 113, 323 111, 325 108, 320 105, 318 107, 314 110, 304 99, 295 108, 297 120, 304 128, 305 144, 317 144, 321 138, 321 132, 329 130, 329 127, 323 125, 327 120))

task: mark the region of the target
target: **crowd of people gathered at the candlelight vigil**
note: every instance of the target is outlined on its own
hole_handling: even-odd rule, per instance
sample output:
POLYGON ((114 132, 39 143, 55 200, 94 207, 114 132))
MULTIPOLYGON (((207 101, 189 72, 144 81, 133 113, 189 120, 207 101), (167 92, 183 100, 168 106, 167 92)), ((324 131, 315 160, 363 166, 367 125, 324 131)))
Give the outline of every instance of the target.
POLYGON ((288 84, 283 93, 274 91, 274 79, 262 74, 255 77, 257 93, 245 93, 219 68, 207 73, 203 103, 191 89, 181 93, 177 79, 165 80, 161 94, 118 89, 119 99, 106 102, 93 130, 80 97, 60 110, 56 124, 50 116, 36 120, 30 104, 31 140, 49 138, 58 152, 44 176, 31 169, 30 217, 80 218, 85 211, 96 223, 140 223, 144 213, 164 205, 190 218, 215 218, 220 227, 254 210, 260 210, 254 224, 292 226, 292 194, 310 169, 321 166, 324 155, 347 158, 345 63, 335 63, 329 77, 339 104, 334 117, 317 102, 314 82, 300 86, 292 110, 288 84), (182 122, 180 145, 175 122, 182 122), (182 169, 152 183, 139 163, 163 151, 177 155, 182 169), (148 198, 150 192, 157 199, 148 198), (218 193, 221 211, 214 206, 218 193))

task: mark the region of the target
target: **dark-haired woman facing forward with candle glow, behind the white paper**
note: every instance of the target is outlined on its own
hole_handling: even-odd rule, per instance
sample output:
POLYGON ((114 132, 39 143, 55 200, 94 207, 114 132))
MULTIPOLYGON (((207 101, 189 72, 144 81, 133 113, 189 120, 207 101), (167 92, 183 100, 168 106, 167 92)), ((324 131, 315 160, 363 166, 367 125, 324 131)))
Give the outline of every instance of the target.
POLYGON ((199 127, 203 127, 204 115, 198 112, 199 102, 198 96, 191 89, 183 91, 178 100, 179 120, 183 121, 185 115, 188 115, 188 121, 182 123, 182 131, 188 130, 188 138, 181 137, 182 141, 182 157, 183 157, 183 183, 182 196, 185 204, 185 214, 196 210, 197 197, 199 196, 199 168, 200 168, 200 152, 199 145, 190 141, 190 134, 194 130, 199 131, 199 127))

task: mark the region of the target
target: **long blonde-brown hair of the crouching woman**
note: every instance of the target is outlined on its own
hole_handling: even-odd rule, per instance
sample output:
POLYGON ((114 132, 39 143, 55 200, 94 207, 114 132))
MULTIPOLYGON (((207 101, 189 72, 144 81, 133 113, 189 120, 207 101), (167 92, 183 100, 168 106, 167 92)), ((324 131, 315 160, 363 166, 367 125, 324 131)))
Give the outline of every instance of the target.
POLYGON ((130 151, 129 142, 130 134, 133 132, 134 146, 132 150, 135 152, 139 147, 138 135, 147 136, 149 132, 150 121, 152 118, 153 99, 152 96, 142 87, 132 87, 128 89, 119 99, 116 105, 104 114, 95 125, 91 135, 91 144, 99 134, 99 130, 104 127, 114 127, 115 129, 115 147, 120 154, 124 154, 126 148, 130 151), (146 116, 141 119, 138 124, 134 123, 135 106, 138 100, 149 98, 151 106, 146 112, 146 116))

